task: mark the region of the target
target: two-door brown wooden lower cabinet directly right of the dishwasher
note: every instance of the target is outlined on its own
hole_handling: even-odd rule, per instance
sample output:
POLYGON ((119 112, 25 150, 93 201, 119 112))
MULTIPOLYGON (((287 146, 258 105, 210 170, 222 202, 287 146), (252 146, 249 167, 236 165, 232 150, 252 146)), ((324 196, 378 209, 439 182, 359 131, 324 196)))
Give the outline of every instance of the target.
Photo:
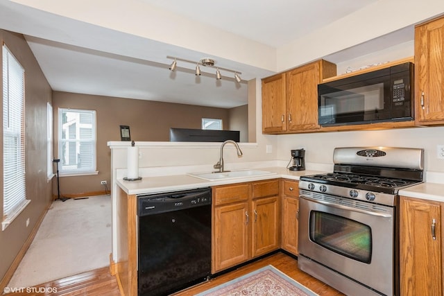
POLYGON ((212 273, 280 246, 279 181, 214 186, 212 273))

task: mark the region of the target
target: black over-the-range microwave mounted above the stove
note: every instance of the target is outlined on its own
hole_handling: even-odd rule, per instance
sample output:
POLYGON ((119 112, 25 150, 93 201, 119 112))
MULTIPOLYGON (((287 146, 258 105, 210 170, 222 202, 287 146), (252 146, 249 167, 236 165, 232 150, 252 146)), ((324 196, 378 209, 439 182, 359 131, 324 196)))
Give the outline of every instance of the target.
POLYGON ((319 125, 411 120, 411 62, 318 85, 319 125))

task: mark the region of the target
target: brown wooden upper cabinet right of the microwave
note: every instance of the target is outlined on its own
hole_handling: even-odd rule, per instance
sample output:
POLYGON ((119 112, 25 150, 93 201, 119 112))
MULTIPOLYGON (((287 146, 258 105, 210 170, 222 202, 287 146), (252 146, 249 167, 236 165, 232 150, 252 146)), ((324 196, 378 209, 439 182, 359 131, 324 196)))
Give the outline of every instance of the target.
POLYGON ((444 18, 415 28, 416 125, 444 124, 444 18))

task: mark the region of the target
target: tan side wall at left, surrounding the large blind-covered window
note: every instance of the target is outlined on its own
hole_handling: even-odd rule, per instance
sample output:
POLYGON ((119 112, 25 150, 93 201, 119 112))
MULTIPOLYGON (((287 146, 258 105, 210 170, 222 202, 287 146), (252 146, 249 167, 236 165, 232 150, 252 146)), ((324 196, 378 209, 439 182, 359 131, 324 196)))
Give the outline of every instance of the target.
MULTIPOLYGON (((0 30, 0 40, 3 40, 25 69, 26 198, 31 200, 31 203, 5 231, 0 231, 0 279, 3 279, 12 261, 31 234, 35 223, 51 203, 52 181, 47 182, 46 178, 46 104, 51 103, 51 88, 22 35, 0 30), (26 227, 28 218, 30 223, 26 227)), ((0 58, 0 64, 2 60, 0 58)), ((1 73, 0 76, 2 76, 1 73)), ((0 82, 0 89, 2 88, 3 84, 0 82)), ((3 112, 0 116, 3 117, 3 112)), ((1 139, 3 139, 1 130, 1 139)), ((3 145, 0 146, 0 151, 3 155, 3 145)), ((0 171, 3 175, 3 160, 1 162, 0 171)), ((0 182, 3 193, 3 178, 0 182)), ((0 200, 0 210, 3 212, 3 194, 0 195, 0 200)))

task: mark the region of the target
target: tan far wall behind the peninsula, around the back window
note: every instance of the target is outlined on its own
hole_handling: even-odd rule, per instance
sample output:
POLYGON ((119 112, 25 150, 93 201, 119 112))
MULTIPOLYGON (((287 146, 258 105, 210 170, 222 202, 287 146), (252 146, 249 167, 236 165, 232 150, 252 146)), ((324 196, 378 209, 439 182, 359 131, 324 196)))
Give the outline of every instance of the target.
MULTIPOLYGON (((200 128, 202 117, 230 122, 230 110, 155 101, 53 92, 54 155, 58 155, 58 108, 96 110, 97 171, 99 175, 60 177, 60 194, 87 195, 104 190, 101 180, 111 180, 108 141, 120 141, 119 125, 130 125, 135 141, 169 141, 169 128, 200 128)), ((243 132, 241 132, 242 134, 243 132)), ((109 187, 109 186, 108 186, 109 187)), ((57 194, 56 183, 53 192, 57 194)))

